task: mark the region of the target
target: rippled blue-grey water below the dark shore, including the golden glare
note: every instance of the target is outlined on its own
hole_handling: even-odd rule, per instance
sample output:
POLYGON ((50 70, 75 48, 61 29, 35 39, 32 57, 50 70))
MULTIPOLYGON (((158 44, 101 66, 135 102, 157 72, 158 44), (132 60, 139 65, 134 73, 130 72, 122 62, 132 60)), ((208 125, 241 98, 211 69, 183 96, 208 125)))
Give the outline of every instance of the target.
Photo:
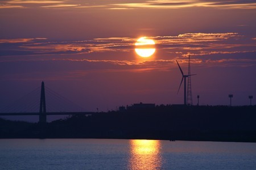
POLYGON ((0 169, 255 169, 256 143, 0 139, 0 169))

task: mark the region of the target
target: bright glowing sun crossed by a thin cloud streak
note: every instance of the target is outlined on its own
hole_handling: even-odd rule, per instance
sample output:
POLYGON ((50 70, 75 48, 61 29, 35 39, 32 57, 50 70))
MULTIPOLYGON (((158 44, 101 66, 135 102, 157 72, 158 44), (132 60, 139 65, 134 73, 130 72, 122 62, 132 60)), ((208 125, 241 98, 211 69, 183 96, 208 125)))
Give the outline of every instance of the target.
POLYGON ((135 43, 135 52, 141 57, 150 57, 155 53, 155 41, 151 39, 147 39, 147 37, 141 37, 135 43))

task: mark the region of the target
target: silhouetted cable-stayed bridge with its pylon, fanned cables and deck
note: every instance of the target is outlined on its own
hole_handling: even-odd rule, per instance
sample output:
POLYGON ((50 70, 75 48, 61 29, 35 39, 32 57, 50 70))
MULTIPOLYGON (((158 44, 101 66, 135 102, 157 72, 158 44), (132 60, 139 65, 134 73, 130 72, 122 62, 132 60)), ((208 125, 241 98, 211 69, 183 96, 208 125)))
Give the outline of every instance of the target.
POLYGON ((83 111, 84 108, 44 86, 42 82, 41 87, 2 108, 0 116, 39 116, 39 122, 43 124, 46 123, 47 115, 95 113, 83 111))

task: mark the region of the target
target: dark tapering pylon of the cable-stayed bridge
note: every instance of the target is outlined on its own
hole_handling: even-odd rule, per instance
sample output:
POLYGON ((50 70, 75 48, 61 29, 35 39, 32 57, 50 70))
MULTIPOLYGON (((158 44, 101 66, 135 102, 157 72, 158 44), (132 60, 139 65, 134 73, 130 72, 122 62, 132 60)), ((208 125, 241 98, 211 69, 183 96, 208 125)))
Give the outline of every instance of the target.
POLYGON ((39 123, 46 124, 46 93, 44 91, 44 82, 41 86, 41 96, 40 96, 40 110, 39 110, 39 123))

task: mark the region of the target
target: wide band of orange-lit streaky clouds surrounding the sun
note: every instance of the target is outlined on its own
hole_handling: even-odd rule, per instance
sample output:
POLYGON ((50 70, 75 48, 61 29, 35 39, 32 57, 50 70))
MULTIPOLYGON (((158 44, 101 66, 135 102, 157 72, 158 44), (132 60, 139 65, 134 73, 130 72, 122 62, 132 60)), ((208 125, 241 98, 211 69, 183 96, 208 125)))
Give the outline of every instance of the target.
MULTIPOLYGON (((226 59, 253 59, 255 54, 255 37, 240 35, 236 32, 226 33, 183 33, 176 36, 151 36, 156 42, 156 50, 159 55, 150 61, 137 61, 131 59, 107 59, 116 56, 117 52, 125 52, 134 55, 132 52, 135 48, 137 38, 134 37, 98 37, 92 40, 80 41, 49 41, 46 38, 34 39, 2 39, 0 47, 3 58, 2 62, 10 61, 8 56, 52 56, 52 61, 61 61, 63 57, 67 61, 88 62, 88 63, 109 63, 118 66, 148 66, 163 67, 167 69, 175 64, 175 59, 183 60, 188 53, 193 56, 192 63, 205 63, 207 58, 215 61, 219 56, 225 55, 226 59), (9 45, 10 44, 10 45, 9 45), (170 54, 170 56, 163 53, 170 54), (86 57, 94 56, 95 59, 79 60, 76 57, 69 57, 71 54, 85 55, 86 57), (92 55, 93 54, 93 55, 92 55), (97 54, 97 55, 95 55, 97 54), (55 56, 58 55, 56 58, 55 56), (104 57, 106 56, 106 58, 104 57), (60 60, 58 60, 58 58, 60 60), (101 59, 98 59, 101 58, 101 59)), ((85 57, 85 58, 86 58, 85 57)), ((241 60, 245 61, 245 60, 241 60)), ((228 63, 226 61, 225 63, 228 63)), ((233 64, 233 63, 232 63, 233 64)), ((255 64, 254 60, 252 64, 255 64)))

